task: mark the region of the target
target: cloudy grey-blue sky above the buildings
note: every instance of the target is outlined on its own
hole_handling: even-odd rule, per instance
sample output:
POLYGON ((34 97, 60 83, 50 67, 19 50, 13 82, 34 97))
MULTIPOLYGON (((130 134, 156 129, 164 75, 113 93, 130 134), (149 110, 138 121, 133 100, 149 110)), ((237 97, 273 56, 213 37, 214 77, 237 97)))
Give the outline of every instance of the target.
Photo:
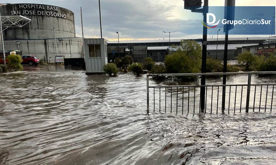
MULTIPOLYGON (((75 13, 77 37, 81 37, 82 7, 84 37, 100 37, 98 0, 2 0, 2 3, 39 3, 67 8, 75 13)), ((168 39, 168 34, 162 31, 177 31, 171 34, 172 39, 202 38, 202 35, 189 35, 185 31, 186 26, 192 25, 192 18, 183 6, 183 0, 101 0, 103 37, 116 40, 118 31, 120 40, 168 39)), ((224 6, 224 0, 209 0, 209 6, 224 6)), ((276 1, 236 0, 236 6, 276 6, 276 1)))

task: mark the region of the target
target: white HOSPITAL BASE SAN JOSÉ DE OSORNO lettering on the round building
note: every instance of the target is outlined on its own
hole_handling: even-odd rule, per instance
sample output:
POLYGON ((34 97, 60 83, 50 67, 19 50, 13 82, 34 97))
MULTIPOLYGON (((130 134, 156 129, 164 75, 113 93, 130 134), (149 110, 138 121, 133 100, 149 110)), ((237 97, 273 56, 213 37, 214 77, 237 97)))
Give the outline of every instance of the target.
POLYGON ((17 10, 11 10, 10 15, 43 15, 66 19, 67 15, 60 12, 60 8, 41 4, 16 4, 17 10))

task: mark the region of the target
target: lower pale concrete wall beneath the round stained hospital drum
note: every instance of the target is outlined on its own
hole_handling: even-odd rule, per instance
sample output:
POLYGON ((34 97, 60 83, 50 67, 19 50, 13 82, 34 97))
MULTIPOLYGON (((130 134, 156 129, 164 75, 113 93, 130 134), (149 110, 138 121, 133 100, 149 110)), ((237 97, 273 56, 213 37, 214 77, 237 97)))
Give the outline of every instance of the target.
MULTIPOLYGON (((82 38, 57 38, 43 40, 8 40, 4 41, 5 50, 18 50, 17 41, 20 41, 20 50, 26 55, 36 55, 48 63, 54 63, 57 55, 65 58, 83 58, 82 38)), ((2 50, 2 46, 0 48, 2 50)))

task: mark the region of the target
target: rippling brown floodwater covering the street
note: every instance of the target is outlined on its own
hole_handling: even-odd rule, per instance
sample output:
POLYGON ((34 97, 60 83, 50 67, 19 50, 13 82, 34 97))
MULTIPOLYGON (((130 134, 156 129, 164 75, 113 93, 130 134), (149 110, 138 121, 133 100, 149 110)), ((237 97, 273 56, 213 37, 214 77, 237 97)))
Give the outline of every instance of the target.
MULTIPOLYGON (((274 111, 147 114, 145 75, 87 76, 55 66, 24 70, 0 74, 0 164, 276 161, 274 111)), ((244 77, 229 81, 244 83, 244 77)))

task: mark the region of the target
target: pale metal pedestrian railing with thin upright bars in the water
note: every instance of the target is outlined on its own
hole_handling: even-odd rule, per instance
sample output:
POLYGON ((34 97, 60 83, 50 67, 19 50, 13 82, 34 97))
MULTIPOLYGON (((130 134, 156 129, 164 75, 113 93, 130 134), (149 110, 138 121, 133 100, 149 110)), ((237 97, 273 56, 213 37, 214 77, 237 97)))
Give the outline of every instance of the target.
MULTIPOLYGON (((219 107, 219 102, 220 102, 220 97, 222 95, 222 93, 220 93, 221 89, 224 89, 224 91, 227 89, 228 92, 225 93, 229 93, 228 95, 228 113, 230 112, 230 106, 233 107, 234 109, 234 113, 236 112, 236 105, 237 103, 239 103, 239 110, 240 112, 242 111, 243 108, 245 108, 246 112, 249 111, 249 107, 250 107, 250 101, 253 102, 253 111, 255 111, 255 103, 256 103, 256 99, 260 99, 259 102, 259 111, 260 109, 264 109, 265 111, 267 110, 267 103, 268 103, 268 93, 271 93, 271 97, 269 96, 270 99, 270 111, 272 111, 272 107, 273 107, 273 96, 274 96, 274 86, 276 86, 276 84, 251 84, 251 76, 252 75, 265 75, 265 74, 271 74, 271 75, 275 75, 276 72, 229 72, 229 73, 177 73, 177 74, 147 74, 147 112, 149 113, 149 89, 153 89, 153 106, 154 106, 154 110, 155 111, 155 89, 159 89, 159 111, 161 112, 161 100, 162 103, 165 103, 165 105, 162 107, 162 109, 165 110, 165 112, 167 112, 167 94, 169 93, 169 97, 170 97, 170 109, 172 112, 172 107, 174 106, 176 109, 176 113, 178 113, 179 108, 182 108, 182 113, 184 113, 184 106, 185 109, 187 108, 187 112, 189 113, 192 107, 192 111, 193 113, 195 113, 195 107, 196 105, 199 105, 199 113, 202 112, 206 112, 207 109, 207 102, 209 102, 211 105, 209 107, 209 109, 211 110, 212 113, 212 109, 214 106, 216 106, 216 113, 218 113, 218 107, 219 107), (227 84, 227 85, 200 85, 200 76, 222 76, 222 75, 248 75, 248 80, 247 80, 247 84, 227 84), (149 85, 149 77, 151 76, 196 76, 197 77, 197 81, 195 85, 164 85, 164 86, 160 86, 160 85, 155 85, 155 86, 150 86, 149 85), (266 87, 263 88, 263 87, 266 87), (254 87, 254 88, 251 88, 254 87), (271 88, 270 88, 271 87, 271 88), (201 92, 198 93, 198 88, 206 88, 205 92, 205 109, 201 109, 200 105, 201 105, 201 92), (162 89, 162 91, 161 91, 162 89), (209 89, 209 90, 207 90, 209 89), (217 90, 216 90, 217 89, 217 90), (237 89, 240 90, 238 91, 238 96, 237 96, 237 89), (244 89, 246 89, 246 93, 244 92, 244 89), (260 89, 260 90, 259 90, 260 89), (162 95, 162 98, 165 98, 165 100, 163 100, 161 98, 161 93, 165 90, 165 95, 162 95), (251 94, 251 90, 254 90, 254 96, 251 94), (209 91, 209 95, 207 95, 207 91, 209 91), (217 91, 217 92, 216 92, 217 91), (256 92, 258 94, 258 92, 260 91, 260 95, 256 95, 256 92), (265 95, 265 101, 263 100, 262 102, 262 94, 266 93, 265 95), (211 94, 210 94, 211 93, 211 94), (234 94, 233 94, 234 93, 234 94), (180 96, 179 96, 180 94, 180 96), (231 95, 233 94, 233 95, 231 95), (243 95, 246 94, 246 97, 243 97, 243 95), (182 95, 182 96, 181 96, 182 95), (214 96, 216 95, 216 102, 214 103, 214 96), (231 96, 235 96, 233 98, 231 98, 231 96), (240 97, 240 98, 237 98, 240 97), (174 101, 173 101, 174 98, 174 101), (191 100, 192 98, 192 100, 191 100), (245 102, 246 104, 243 104, 244 102, 244 98, 246 98, 245 102), (181 99, 182 103, 179 103, 179 99, 181 99), (191 104, 192 103, 192 104, 191 104), (199 103, 199 104, 198 104, 199 103), (263 104, 263 105, 262 105, 263 104)), ((223 97, 222 97, 223 98, 223 97)), ((225 97, 224 97, 225 98, 225 97)), ((264 97, 263 97, 264 98, 264 97)), ((224 100, 225 102, 225 100, 224 100)), ((224 106, 226 104, 223 104, 224 106)), ((221 108, 223 112, 225 112, 225 107, 221 108)))

